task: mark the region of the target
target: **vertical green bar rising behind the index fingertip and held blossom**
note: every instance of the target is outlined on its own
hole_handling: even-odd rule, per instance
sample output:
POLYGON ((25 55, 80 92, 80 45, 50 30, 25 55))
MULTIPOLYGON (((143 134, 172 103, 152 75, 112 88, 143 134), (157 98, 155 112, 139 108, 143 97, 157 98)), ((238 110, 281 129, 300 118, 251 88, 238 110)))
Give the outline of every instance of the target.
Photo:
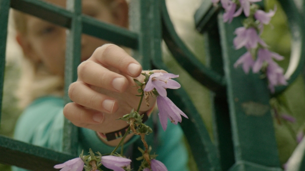
MULTIPOLYGON (((133 57, 141 63, 143 70, 151 70, 151 59, 161 58, 162 37, 159 4, 159 0, 132 0, 130 4, 130 29, 139 34, 138 49, 133 51, 133 57)), ((141 155, 136 146, 134 146, 133 154, 133 156, 141 155)), ((137 170, 141 162, 135 158, 133 158, 133 164, 134 169, 137 170)))

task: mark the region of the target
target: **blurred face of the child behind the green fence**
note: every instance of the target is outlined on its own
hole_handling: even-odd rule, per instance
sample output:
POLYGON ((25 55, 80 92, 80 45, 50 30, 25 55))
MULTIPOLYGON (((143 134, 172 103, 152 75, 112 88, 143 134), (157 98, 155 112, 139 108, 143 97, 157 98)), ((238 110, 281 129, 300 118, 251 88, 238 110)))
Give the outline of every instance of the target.
MULTIPOLYGON (((66 4, 66 1, 63 0, 47 1, 62 7, 65 7, 66 4)), ((83 14, 127 27, 128 21, 122 21, 122 17, 119 17, 113 9, 107 7, 101 0, 85 0, 82 2, 83 14)), ((20 34, 19 38, 17 36, 17 41, 23 48, 24 54, 35 62, 44 63, 51 73, 64 75, 66 28, 33 16, 26 17, 26 28, 24 36, 20 34)), ((107 42, 88 35, 82 35, 81 61, 88 59, 96 48, 105 43, 107 42)))

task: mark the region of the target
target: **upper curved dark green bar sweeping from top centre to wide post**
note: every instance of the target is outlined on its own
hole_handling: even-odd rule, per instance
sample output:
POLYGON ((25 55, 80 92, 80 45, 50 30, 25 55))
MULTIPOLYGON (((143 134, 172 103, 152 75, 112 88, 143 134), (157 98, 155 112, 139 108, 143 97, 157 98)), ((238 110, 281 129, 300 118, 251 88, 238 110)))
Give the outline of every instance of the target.
POLYGON ((177 62, 197 81, 208 89, 218 92, 225 88, 224 78, 204 66, 182 43, 167 13, 165 1, 162 1, 163 39, 177 62))

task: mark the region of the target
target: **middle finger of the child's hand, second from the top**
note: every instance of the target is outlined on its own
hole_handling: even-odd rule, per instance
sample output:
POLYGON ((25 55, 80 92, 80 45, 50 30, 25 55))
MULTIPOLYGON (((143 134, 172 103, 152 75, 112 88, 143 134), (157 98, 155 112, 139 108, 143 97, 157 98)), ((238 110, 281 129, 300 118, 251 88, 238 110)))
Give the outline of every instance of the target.
POLYGON ((123 92, 128 86, 126 77, 111 72, 94 61, 84 61, 77 69, 78 79, 110 91, 123 92))

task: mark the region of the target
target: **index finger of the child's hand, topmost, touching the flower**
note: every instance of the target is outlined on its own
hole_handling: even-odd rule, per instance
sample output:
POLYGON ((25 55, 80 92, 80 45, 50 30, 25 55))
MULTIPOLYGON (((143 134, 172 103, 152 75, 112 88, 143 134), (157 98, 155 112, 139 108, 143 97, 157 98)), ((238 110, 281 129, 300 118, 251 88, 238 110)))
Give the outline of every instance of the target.
POLYGON ((124 49, 114 44, 106 44, 97 48, 88 60, 100 63, 104 67, 114 67, 131 77, 141 74, 142 66, 124 49))

